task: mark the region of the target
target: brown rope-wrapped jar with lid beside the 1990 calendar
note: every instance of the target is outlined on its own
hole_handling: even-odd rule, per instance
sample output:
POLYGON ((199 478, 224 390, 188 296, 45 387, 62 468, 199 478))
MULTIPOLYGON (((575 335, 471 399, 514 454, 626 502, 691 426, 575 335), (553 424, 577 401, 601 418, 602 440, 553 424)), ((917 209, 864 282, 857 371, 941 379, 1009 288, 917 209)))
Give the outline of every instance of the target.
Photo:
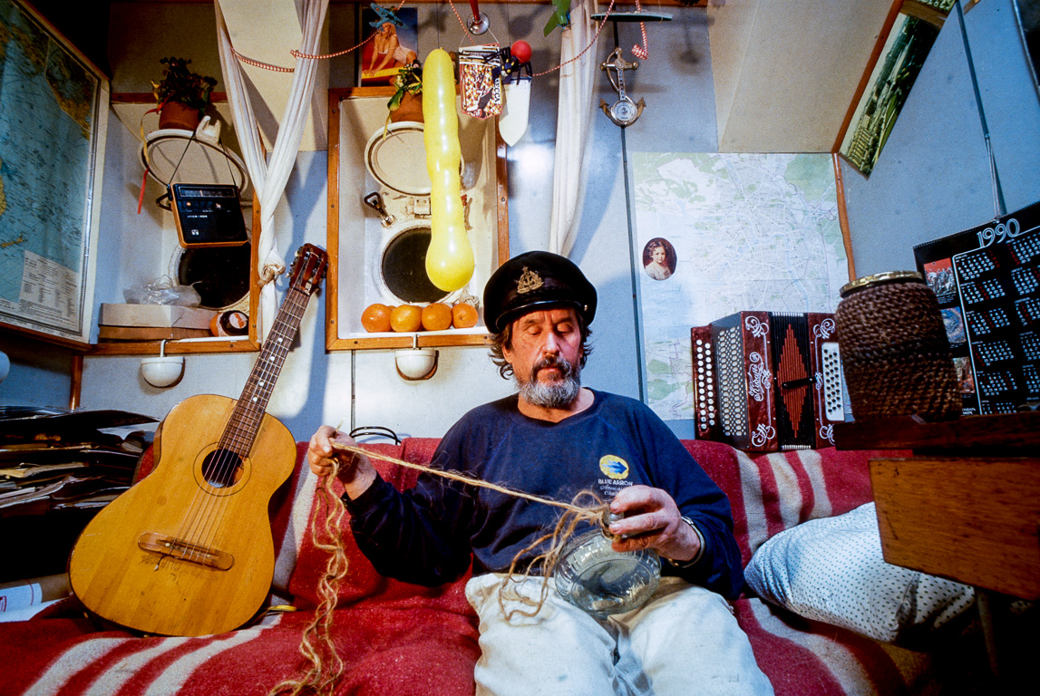
POLYGON ((950 340, 921 275, 868 275, 840 294, 834 320, 853 418, 957 418, 961 395, 950 340))

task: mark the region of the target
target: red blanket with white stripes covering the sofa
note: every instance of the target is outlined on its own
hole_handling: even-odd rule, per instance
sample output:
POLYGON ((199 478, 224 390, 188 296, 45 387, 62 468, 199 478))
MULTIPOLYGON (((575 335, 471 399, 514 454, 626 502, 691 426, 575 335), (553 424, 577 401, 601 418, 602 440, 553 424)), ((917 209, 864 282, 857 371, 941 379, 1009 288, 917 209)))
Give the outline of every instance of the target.
MULTIPOLYGON (((401 447, 370 448, 425 462, 437 441, 410 438, 401 447)), ((873 453, 831 449, 752 458, 718 443, 685 445, 729 496, 745 563, 778 532, 870 500, 873 453)), ((316 480, 301 465, 306 444, 297 450, 296 471, 272 502, 278 559, 270 597, 272 604, 291 603, 297 612, 269 614, 218 636, 141 637, 99 625, 75 599, 67 599, 32 620, 0 623, 0 694, 243 696, 266 694, 297 674, 304 664, 301 637, 318 601, 326 564, 310 537, 316 480)), ((147 471, 150 462, 142 463, 147 471)), ((385 462, 378 466, 399 488, 413 485, 417 476, 385 462)), ((463 594, 465 579, 435 589, 388 580, 349 534, 345 543, 349 571, 333 635, 346 673, 337 693, 472 694, 479 648, 475 616, 463 594)), ((931 684, 927 653, 802 619, 755 597, 737 599, 734 610, 779 696, 911 694, 931 684)))

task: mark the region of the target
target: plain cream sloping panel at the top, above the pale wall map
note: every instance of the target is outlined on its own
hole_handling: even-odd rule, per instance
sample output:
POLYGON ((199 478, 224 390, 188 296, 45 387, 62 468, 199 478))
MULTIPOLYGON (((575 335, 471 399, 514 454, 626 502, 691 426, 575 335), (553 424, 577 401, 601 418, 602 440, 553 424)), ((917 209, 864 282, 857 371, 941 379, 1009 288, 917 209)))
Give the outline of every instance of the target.
POLYGON ((891 5, 710 3, 719 151, 830 152, 891 5))

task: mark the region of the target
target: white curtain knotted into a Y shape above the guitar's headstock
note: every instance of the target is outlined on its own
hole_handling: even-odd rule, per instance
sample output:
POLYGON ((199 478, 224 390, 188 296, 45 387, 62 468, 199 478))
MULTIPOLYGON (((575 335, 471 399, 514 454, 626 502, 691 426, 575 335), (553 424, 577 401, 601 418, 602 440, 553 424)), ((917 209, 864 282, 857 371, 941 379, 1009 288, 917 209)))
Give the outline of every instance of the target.
MULTIPOLYGON (((318 61, 315 58, 296 58, 289 101, 279 122, 278 137, 268 161, 253 104, 245 88, 245 78, 238 59, 232 52, 231 35, 224 21, 224 12, 220 11, 219 0, 213 5, 216 9, 220 68, 224 73, 224 84, 228 90, 228 100, 231 102, 235 133, 242 148, 245 168, 250 172, 250 179, 253 180, 253 187, 260 202, 260 239, 254 239, 253 243, 257 245, 258 271, 262 286, 258 303, 259 316, 256 318, 257 336, 263 341, 278 313, 278 299, 272 280, 285 270, 285 259, 279 252, 278 241, 275 238, 275 209, 285 190, 289 173, 296 163, 300 141, 303 139, 304 127, 307 125, 310 111, 318 61)), ((329 0, 302 0, 302 5, 303 46, 300 47, 300 51, 316 55, 320 49, 321 25, 329 9, 329 0)))

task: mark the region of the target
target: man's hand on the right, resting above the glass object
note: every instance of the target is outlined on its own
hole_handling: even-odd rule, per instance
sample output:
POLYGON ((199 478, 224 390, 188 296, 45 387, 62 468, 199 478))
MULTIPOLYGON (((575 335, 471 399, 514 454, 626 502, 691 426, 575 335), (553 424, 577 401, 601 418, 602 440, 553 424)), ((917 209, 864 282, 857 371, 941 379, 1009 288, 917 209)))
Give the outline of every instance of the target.
POLYGON ((680 562, 697 558, 701 551, 697 532, 683 521, 679 506, 660 488, 625 488, 610 501, 610 512, 625 515, 610 525, 610 533, 628 537, 616 539, 615 551, 653 548, 660 556, 680 562))

